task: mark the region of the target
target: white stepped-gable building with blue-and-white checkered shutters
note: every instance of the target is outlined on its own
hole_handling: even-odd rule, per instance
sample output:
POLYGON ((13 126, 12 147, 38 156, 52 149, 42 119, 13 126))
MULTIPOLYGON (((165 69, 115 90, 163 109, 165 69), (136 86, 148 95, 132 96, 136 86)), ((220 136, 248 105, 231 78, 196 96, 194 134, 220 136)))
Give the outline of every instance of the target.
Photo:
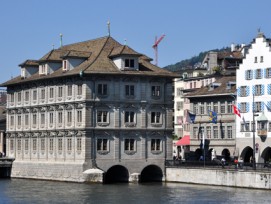
POLYGON ((271 158, 271 114, 267 108, 271 108, 270 42, 270 39, 258 33, 237 70, 237 106, 241 111, 241 118, 236 117, 236 145, 239 157, 245 162, 250 162, 253 158, 253 149, 256 162, 269 161, 271 158))

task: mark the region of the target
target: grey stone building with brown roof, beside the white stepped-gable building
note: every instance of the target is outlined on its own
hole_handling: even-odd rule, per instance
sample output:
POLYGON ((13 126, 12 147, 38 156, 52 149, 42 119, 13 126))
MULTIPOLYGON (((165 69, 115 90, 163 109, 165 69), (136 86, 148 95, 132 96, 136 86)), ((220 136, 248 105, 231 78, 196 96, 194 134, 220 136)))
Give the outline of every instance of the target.
POLYGON ((205 139, 205 156, 211 159, 212 152, 230 159, 236 155, 235 102, 236 77, 221 76, 215 82, 187 94, 191 113, 196 114, 190 124, 190 150, 196 159, 203 155, 202 139, 205 139), (209 111, 217 114, 217 122, 210 121, 209 111))

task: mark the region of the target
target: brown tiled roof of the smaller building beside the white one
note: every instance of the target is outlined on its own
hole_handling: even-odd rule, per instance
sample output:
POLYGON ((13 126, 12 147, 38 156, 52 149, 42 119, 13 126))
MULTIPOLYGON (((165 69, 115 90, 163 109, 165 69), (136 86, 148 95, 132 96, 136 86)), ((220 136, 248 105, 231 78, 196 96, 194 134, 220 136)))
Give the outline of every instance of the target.
POLYGON ((204 97, 204 96, 218 96, 234 94, 236 91, 236 84, 232 84, 231 88, 227 88, 228 82, 236 82, 236 76, 222 76, 218 78, 214 83, 221 84, 213 89, 210 89, 210 85, 195 90, 192 93, 186 95, 188 98, 204 97))

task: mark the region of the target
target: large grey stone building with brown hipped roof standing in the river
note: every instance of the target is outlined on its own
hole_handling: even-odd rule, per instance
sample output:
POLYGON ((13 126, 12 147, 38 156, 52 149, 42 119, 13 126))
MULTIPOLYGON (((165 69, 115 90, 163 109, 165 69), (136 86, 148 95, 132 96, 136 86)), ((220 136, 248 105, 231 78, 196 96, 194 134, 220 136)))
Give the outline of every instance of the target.
POLYGON ((11 176, 163 180, 172 157, 175 75, 150 61, 108 36, 20 64, 20 76, 1 84, 11 176))

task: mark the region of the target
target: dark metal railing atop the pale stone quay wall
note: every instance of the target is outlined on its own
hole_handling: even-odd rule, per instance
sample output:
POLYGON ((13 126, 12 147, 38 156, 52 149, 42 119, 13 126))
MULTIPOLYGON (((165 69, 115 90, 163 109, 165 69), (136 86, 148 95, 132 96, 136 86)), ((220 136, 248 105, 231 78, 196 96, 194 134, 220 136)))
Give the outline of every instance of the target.
MULTIPOLYGON (((213 169, 232 169, 232 170, 244 170, 244 171, 255 171, 252 163, 246 162, 226 162, 222 165, 219 160, 216 161, 184 161, 184 160, 166 160, 166 167, 171 168, 213 168, 213 169)), ((267 163, 256 163, 256 171, 270 171, 271 164, 267 163)))

